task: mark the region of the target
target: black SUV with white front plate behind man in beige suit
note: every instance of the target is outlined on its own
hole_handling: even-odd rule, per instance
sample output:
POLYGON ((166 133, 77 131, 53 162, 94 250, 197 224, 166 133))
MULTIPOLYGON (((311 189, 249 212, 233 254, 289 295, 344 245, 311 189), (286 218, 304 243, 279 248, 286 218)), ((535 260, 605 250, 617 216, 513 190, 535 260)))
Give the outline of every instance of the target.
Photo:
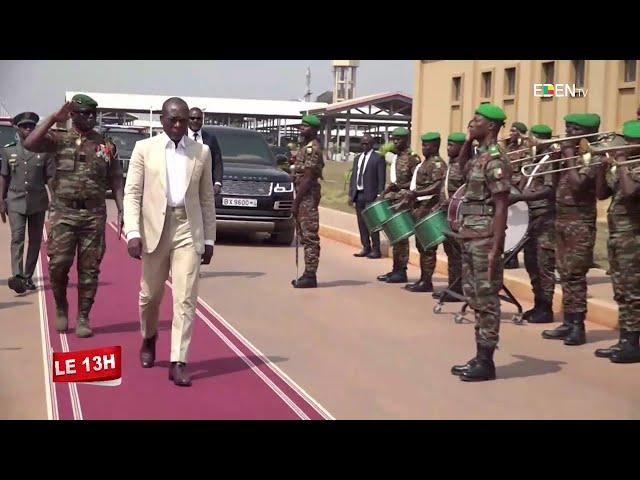
POLYGON ((295 232, 293 184, 263 136, 241 128, 202 128, 216 137, 222 150, 222 194, 216 197, 220 230, 268 232, 274 243, 290 245, 295 232))

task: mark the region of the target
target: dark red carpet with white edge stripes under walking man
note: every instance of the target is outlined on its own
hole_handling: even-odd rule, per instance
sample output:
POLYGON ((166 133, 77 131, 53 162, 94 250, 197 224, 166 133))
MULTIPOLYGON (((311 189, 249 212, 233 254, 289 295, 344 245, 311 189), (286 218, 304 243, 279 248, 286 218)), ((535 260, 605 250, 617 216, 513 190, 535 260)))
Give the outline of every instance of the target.
MULTIPOLYGON (((198 303, 187 370, 189 388, 168 380, 171 336, 171 288, 160 309, 156 366, 143 369, 138 359, 140 262, 129 258, 126 244, 107 228, 107 251, 91 311, 94 336, 60 335, 53 326, 55 305, 49 285, 46 248, 41 262, 49 337, 53 351, 122 346, 122 384, 55 384, 54 410, 60 419, 323 419, 321 407, 290 385, 257 352, 198 303), (216 331, 217 330, 217 331, 216 331), (225 343, 226 340, 226 343, 225 343)), ((70 327, 77 313, 76 266, 68 289, 70 327)), ((215 306, 214 306, 215 307, 215 306)), ((50 360, 50 359, 49 359, 50 360)), ((272 359, 274 363, 286 361, 272 359)), ((56 413, 54 413, 54 416, 56 413)))

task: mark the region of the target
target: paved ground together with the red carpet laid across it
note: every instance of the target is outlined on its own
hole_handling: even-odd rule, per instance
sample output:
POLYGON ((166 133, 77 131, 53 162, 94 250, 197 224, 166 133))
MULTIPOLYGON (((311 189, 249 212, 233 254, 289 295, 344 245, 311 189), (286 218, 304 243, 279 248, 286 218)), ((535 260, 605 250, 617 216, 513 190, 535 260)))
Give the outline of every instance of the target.
MULTIPOLYGON (((8 238, 8 226, 0 225, 3 285, 8 238)), ((92 339, 41 328, 38 294, 17 297, 6 286, 0 289, 2 418, 47 418, 43 341, 55 350, 66 341, 72 350, 120 344, 125 352, 120 387, 56 387, 49 403, 57 403, 57 413, 50 415, 59 418, 640 418, 638 365, 593 355, 615 341, 613 330, 589 324, 589 343, 566 347, 540 337, 546 326, 512 324, 513 308, 506 305, 496 353, 499 379, 464 383, 449 373, 475 352, 473 325, 453 322, 459 304, 436 315, 430 294, 375 280, 390 269, 391 259, 354 258, 355 248, 329 239, 322 240, 316 290, 291 288, 292 247, 230 237, 218 243, 200 285, 190 361, 194 387, 180 389, 166 379, 166 306, 160 365, 139 368, 139 267, 113 231, 108 245, 92 339), (194 408, 184 413, 181 405, 194 408)), ((410 267, 410 278, 417 275, 410 267)), ((435 280, 443 285, 444 278, 435 280)), ((44 314, 52 306, 47 292, 44 314)))

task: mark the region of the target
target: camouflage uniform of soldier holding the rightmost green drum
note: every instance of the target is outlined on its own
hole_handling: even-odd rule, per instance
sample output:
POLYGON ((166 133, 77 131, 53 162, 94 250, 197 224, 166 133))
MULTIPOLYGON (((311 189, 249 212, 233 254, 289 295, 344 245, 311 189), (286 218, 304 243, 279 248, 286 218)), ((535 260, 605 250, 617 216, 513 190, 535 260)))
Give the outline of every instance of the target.
MULTIPOLYGON (((441 185, 446 173, 445 163, 439 155, 432 155, 420 164, 416 173, 416 190, 424 190, 433 185, 441 185)), ((431 198, 419 200, 413 206, 411 212, 414 220, 417 222, 433 212, 438 206, 438 194, 434 194, 431 198)), ((425 250, 416 238, 416 248, 420 252, 420 271, 422 279, 431 280, 433 272, 436 269, 436 250, 437 246, 425 250)))

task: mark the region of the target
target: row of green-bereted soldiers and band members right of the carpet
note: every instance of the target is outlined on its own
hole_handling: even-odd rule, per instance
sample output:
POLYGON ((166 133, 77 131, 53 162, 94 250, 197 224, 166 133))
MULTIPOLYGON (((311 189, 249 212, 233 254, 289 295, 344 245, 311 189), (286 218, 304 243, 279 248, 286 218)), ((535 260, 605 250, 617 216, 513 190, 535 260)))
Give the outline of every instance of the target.
MULTIPOLYGON (((587 272, 593 266, 597 200, 611 197, 608 210, 608 252, 614 299, 619 307, 619 340, 595 355, 614 363, 640 362, 640 163, 624 165, 630 155, 640 154, 640 109, 638 118, 624 124, 622 135, 605 146, 635 145, 636 150, 611 150, 596 154, 590 162, 579 155, 579 138, 599 140, 600 116, 572 113, 564 117, 565 136, 550 141, 553 131, 538 124, 528 129, 514 122, 505 141, 498 138, 506 114, 498 106, 482 104, 469 122, 467 133, 454 132, 447 138, 448 162, 439 156, 440 134, 421 136, 420 156, 409 148, 409 131, 392 133, 397 155, 391 182, 381 197, 393 208, 408 210, 415 220, 442 209, 447 211, 453 194, 464 184, 461 225, 457 233, 445 231, 449 285, 455 295, 443 301, 469 302, 475 312, 476 356, 456 365, 452 373, 464 381, 495 379, 494 351, 500 330, 500 298, 508 208, 526 202, 529 222, 524 242, 525 267, 531 280, 534 306, 525 312, 530 323, 551 323, 555 271, 562 287, 563 320, 555 329, 544 330, 545 339, 563 340, 565 345, 586 343, 587 272), (570 138, 572 137, 572 138, 570 138), (578 137, 578 138, 575 138, 578 137), (535 143, 536 155, 531 155, 535 143), (550 163, 535 165, 542 157, 550 163), (555 162, 554 162, 555 161, 555 162), (556 163, 558 162, 558 163, 556 163), (561 162, 561 163, 560 163, 561 162), (558 171, 560 165, 563 169, 558 171), (539 174, 523 174, 523 169, 539 167, 539 174)), ((320 245, 318 203, 322 178, 322 151, 316 139, 320 120, 305 117, 304 146, 293 165, 296 188, 294 211, 305 247, 305 274, 292 283, 298 288, 316 286, 320 245)), ((531 170, 528 170, 529 172, 531 170)), ((422 248, 420 279, 406 285, 412 292, 433 292, 432 276, 436 247, 422 248)), ((513 255, 517 261, 517 256, 513 255)), ((409 241, 393 245, 393 268, 379 281, 406 283, 409 241)), ((439 298, 444 293, 433 293, 439 298)))

